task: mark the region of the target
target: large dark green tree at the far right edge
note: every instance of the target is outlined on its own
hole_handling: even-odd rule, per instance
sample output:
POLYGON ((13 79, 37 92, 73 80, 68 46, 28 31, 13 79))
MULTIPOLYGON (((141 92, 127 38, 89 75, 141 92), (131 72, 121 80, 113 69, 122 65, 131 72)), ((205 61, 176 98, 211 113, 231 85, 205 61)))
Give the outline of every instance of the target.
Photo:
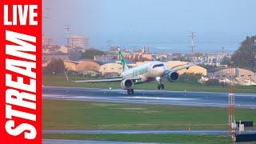
POLYGON ((246 37, 231 57, 234 66, 256 72, 256 36, 246 37))

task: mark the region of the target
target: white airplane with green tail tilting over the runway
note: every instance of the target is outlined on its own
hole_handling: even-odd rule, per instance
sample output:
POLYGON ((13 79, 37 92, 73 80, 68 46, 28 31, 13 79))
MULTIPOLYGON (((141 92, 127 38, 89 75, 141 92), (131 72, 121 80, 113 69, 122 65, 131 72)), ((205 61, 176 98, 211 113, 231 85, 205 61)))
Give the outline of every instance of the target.
MULTIPOLYGON (((198 65, 199 63, 186 64, 182 66, 175 66, 170 70, 166 70, 166 66, 163 62, 148 62, 134 68, 128 68, 126 60, 122 55, 122 52, 118 50, 118 55, 122 62, 122 74, 118 77, 102 78, 94 80, 78 80, 71 82, 121 82, 123 90, 127 90, 127 94, 134 94, 133 86, 143 82, 151 82, 156 80, 158 82, 158 90, 164 89, 164 78, 167 78, 169 82, 178 81, 178 70, 189 69, 190 66, 198 65)), ((66 74, 66 73, 65 73, 66 74)), ((68 77, 66 76, 66 79, 68 77)))

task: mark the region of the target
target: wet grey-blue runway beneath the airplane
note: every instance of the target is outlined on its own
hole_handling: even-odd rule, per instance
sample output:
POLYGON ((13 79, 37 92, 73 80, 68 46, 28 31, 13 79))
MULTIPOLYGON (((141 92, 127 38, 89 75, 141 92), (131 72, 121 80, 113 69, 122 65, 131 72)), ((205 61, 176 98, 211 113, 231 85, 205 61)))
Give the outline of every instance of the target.
MULTIPOLYGON (((236 107, 256 108, 256 94, 234 94, 236 107)), ((181 106, 227 106, 228 94, 168 90, 135 90, 127 95, 126 90, 107 90, 81 87, 44 86, 44 99, 74 100, 89 102, 131 102, 181 106)))

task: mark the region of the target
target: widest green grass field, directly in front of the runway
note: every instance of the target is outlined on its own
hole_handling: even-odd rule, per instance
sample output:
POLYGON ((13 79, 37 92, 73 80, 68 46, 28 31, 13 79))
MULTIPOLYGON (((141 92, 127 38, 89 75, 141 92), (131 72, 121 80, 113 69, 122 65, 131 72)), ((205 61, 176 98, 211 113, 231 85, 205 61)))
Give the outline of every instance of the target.
MULTIPOLYGON (((226 130, 227 110, 114 102, 43 100, 44 130, 226 130)), ((256 120, 253 109, 237 109, 236 120, 256 120)))

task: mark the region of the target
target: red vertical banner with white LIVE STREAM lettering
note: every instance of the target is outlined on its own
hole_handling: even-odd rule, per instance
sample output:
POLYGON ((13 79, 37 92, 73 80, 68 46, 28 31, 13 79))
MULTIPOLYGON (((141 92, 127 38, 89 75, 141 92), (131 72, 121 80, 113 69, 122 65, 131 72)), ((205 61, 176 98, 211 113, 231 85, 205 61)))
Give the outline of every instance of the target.
POLYGON ((0 144, 42 143, 42 2, 0 10, 0 144))

